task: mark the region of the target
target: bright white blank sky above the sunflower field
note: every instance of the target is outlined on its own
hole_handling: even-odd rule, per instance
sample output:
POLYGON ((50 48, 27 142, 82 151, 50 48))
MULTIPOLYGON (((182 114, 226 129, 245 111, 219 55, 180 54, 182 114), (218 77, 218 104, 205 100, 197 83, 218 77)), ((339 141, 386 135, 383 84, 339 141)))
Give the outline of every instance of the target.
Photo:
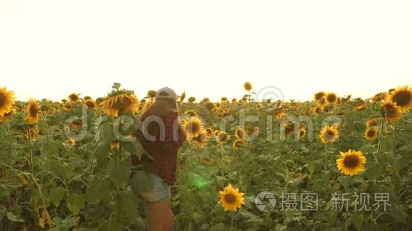
MULTIPOLYGON (((412 85, 412 1, 0 0, 0 87, 60 100, 170 86, 367 98, 412 85)), ((279 94, 278 94, 279 95, 279 94)))

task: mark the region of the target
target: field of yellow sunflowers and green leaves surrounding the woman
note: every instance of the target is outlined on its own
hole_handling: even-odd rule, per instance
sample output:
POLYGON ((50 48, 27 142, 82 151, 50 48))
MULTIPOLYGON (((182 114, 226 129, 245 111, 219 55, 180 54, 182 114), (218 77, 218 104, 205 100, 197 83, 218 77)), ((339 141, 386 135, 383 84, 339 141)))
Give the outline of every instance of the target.
MULTIPOLYGON (((16 101, 0 88, 0 230, 145 230, 131 185, 156 91, 16 101)), ((313 100, 178 98, 175 230, 411 230, 412 90, 313 100), (408 228, 409 227, 409 228, 408 228)))

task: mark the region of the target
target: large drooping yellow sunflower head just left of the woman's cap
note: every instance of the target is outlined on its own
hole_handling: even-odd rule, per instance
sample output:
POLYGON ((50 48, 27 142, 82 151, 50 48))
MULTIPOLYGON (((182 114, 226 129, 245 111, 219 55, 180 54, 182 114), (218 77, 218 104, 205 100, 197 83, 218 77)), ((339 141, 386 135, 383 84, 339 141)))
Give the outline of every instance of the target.
POLYGON ((134 94, 115 93, 108 96, 101 105, 108 116, 117 117, 120 111, 134 113, 139 110, 139 100, 134 94))

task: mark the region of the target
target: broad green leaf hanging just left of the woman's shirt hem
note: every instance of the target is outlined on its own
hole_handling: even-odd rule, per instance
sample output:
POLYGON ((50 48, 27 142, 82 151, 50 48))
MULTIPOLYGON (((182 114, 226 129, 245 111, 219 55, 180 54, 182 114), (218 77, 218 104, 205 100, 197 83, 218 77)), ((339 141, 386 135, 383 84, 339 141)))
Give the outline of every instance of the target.
POLYGON ((131 174, 130 159, 110 159, 107 164, 107 171, 109 171, 109 179, 112 180, 114 186, 120 188, 131 174))

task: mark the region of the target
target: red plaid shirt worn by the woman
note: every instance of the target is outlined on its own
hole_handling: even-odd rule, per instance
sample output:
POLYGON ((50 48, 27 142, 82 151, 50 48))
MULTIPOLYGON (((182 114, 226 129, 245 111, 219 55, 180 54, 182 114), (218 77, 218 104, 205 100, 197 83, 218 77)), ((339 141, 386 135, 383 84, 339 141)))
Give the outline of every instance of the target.
MULTIPOLYGON (((176 181, 178 149, 185 140, 185 133, 178 121, 178 113, 174 111, 160 117, 148 117, 146 122, 143 121, 143 133, 138 137, 144 150, 153 157, 152 160, 143 155, 140 163, 148 164, 153 174, 160 176, 166 184, 173 185, 176 181)), ((139 164, 135 155, 131 157, 135 165, 139 164)))

